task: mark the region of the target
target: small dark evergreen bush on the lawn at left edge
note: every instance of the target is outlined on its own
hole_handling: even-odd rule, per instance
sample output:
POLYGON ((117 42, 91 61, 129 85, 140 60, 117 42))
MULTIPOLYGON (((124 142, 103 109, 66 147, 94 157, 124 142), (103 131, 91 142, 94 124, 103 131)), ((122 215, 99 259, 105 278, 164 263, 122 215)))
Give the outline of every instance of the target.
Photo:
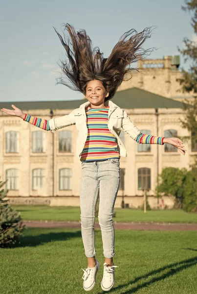
MULTIPOLYGON (((5 182, 0 181, 0 188, 5 182)), ((0 247, 11 247, 19 242, 24 225, 20 214, 11 208, 8 200, 3 200, 7 190, 0 190, 0 247)))

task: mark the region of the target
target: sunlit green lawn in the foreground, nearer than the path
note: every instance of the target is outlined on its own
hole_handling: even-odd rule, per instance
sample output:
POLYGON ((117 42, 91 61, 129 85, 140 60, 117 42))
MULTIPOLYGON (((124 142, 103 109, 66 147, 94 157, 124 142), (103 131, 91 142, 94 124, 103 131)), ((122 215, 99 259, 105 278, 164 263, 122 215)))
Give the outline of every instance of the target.
MULTIPOLYGON (((131 211, 132 212, 132 211, 131 211)), ((196 232, 115 233, 114 294, 196 294, 196 232)), ((102 294, 101 233, 96 230, 101 267, 92 294, 102 294)), ((0 249, 0 294, 83 294, 87 262, 78 229, 28 228, 20 246, 0 249)))

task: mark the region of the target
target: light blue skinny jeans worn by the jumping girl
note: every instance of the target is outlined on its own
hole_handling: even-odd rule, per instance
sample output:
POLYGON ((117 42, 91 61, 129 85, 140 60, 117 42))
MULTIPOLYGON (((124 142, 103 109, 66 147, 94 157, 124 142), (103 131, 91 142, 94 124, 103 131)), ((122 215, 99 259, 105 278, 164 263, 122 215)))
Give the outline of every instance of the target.
POLYGON ((99 195, 99 224, 103 254, 114 256, 113 208, 120 183, 119 159, 82 162, 80 186, 81 230, 85 255, 93 257, 95 250, 95 206, 99 195))

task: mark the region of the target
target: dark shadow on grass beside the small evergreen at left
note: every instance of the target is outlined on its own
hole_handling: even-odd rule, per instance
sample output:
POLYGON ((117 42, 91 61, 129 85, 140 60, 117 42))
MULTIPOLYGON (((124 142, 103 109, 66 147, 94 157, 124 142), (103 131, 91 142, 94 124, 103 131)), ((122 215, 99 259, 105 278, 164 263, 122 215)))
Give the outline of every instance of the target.
POLYGON ((71 238, 81 237, 81 231, 76 232, 50 232, 40 235, 28 235, 21 238, 21 243, 14 247, 38 246, 52 241, 66 241, 71 238))

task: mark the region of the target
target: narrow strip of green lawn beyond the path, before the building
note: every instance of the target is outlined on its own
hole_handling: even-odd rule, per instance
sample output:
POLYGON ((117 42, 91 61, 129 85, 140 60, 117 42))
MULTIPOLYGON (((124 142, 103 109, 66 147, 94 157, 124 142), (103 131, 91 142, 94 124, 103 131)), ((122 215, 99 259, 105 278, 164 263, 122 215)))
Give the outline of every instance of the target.
MULTIPOLYGON (((50 206, 13 206, 21 212, 23 220, 79 221, 79 207, 50 206)), ((153 221, 153 222, 197 222, 197 213, 186 213, 183 210, 152 210, 145 214, 141 210, 115 209, 114 221, 153 221)))

